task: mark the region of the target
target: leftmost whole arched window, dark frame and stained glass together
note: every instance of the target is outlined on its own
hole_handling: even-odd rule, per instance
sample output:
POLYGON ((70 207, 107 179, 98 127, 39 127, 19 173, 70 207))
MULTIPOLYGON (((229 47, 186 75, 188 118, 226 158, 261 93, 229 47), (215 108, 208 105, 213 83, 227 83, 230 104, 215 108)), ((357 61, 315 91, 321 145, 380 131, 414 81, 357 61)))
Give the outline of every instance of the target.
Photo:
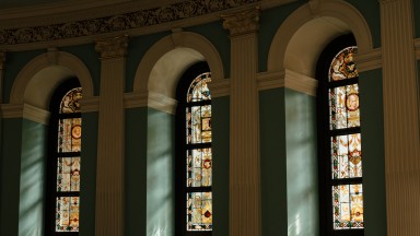
POLYGON ((61 84, 52 95, 49 123, 48 212, 49 235, 79 234, 82 150, 82 88, 78 80, 61 84))

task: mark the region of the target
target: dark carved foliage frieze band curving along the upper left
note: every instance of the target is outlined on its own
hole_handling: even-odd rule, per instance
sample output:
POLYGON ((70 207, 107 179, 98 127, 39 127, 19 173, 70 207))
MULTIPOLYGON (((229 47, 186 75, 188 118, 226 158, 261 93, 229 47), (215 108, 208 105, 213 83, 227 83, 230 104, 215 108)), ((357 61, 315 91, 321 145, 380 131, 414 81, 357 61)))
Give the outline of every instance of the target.
POLYGON ((0 45, 30 44, 103 35, 211 14, 260 0, 187 0, 106 17, 43 26, 0 30, 0 45))

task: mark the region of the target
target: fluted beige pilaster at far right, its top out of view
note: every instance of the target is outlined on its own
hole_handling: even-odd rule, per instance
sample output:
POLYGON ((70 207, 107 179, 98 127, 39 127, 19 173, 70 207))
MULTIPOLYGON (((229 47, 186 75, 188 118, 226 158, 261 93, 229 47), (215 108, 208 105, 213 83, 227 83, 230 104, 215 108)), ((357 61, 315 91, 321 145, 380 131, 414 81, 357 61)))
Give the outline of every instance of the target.
POLYGON ((420 129, 412 24, 411 0, 381 1, 389 236, 420 235, 420 129))

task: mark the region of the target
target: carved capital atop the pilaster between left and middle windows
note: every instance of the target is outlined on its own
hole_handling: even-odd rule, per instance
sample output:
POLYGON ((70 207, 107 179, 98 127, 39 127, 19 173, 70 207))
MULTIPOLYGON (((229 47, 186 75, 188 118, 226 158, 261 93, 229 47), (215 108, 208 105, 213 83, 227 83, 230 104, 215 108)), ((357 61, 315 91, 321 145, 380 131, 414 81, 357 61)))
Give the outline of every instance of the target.
POLYGON ((96 42, 96 51, 101 59, 124 58, 127 55, 128 36, 106 38, 96 42))

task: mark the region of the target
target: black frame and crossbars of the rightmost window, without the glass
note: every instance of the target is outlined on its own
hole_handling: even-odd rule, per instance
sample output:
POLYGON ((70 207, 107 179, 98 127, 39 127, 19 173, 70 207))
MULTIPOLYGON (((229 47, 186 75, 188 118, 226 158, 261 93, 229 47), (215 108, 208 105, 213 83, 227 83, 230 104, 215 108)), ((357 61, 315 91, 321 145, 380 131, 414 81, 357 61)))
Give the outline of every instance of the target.
MULTIPOLYGON (((363 177, 348 179, 331 178, 330 138, 350 133, 361 133, 361 126, 339 130, 329 129, 328 90, 359 83, 359 76, 341 81, 328 81, 328 72, 332 59, 342 49, 357 46, 354 36, 341 35, 332 39, 319 56, 316 67, 317 88, 317 117, 318 117, 318 179, 319 179, 319 235, 325 236, 364 236, 364 228, 334 229, 332 219, 332 186, 362 184, 363 177)), ((360 118, 361 119, 361 118, 360 118)), ((361 119, 362 122, 362 119, 361 119)), ((363 169, 364 170, 364 169, 363 169)), ((363 209, 365 206, 363 205, 363 209)))

